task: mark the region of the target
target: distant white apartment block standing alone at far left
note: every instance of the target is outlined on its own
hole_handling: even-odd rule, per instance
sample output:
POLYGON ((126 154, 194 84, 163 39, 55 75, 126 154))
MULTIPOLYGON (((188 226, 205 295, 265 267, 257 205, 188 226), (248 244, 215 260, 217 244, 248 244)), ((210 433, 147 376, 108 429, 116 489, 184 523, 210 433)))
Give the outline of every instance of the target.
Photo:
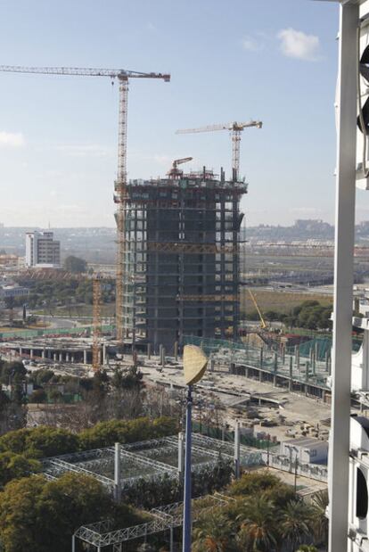
POLYGON ((59 268, 60 264, 61 243, 53 239, 53 232, 27 232, 26 267, 59 268))

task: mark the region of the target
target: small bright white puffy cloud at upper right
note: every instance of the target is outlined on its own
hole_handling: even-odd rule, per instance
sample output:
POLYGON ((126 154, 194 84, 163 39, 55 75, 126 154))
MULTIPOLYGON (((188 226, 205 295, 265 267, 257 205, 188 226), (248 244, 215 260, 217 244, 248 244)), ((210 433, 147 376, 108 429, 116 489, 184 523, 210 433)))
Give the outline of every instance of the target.
POLYGON ((282 53, 287 57, 307 62, 316 62, 319 59, 319 37, 290 28, 280 30, 277 38, 281 41, 282 53))

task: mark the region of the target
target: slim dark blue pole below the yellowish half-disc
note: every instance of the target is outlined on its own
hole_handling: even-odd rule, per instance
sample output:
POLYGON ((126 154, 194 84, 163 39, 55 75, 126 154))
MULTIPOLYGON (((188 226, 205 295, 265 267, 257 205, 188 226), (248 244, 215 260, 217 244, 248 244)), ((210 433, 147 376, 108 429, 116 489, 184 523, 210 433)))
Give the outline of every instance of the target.
POLYGON ((185 415, 185 460, 184 460, 184 540, 183 552, 191 552, 191 447, 192 447, 192 423, 193 414, 193 386, 187 387, 187 402, 185 415))

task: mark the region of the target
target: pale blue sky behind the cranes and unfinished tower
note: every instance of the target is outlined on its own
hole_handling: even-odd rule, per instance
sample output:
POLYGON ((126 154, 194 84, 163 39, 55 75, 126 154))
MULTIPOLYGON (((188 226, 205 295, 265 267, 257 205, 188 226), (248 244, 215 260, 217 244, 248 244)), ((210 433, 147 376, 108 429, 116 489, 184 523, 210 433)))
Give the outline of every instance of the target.
MULTIPOLYGON (((192 156, 230 174, 242 135, 248 226, 333 220, 338 7, 311 0, 0 0, 0 63, 170 72, 132 79, 130 178, 192 156)), ((0 222, 114 227, 118 86, 110 78, 0 72, 0 222)), ((357 194, 357 220, 369 196, 357 194)))

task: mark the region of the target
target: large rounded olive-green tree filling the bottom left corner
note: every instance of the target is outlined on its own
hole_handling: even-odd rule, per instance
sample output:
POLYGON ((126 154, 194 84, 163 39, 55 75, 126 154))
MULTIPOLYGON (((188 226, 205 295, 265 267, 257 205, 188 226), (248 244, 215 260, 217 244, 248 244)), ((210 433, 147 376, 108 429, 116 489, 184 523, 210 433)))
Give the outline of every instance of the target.
POLYGON ((53 482, 34 475, 8 483, 0 493, 6 552, 65 552, 80 525, 112 514, 101 483, 82 474, 65 474, 53 482))

